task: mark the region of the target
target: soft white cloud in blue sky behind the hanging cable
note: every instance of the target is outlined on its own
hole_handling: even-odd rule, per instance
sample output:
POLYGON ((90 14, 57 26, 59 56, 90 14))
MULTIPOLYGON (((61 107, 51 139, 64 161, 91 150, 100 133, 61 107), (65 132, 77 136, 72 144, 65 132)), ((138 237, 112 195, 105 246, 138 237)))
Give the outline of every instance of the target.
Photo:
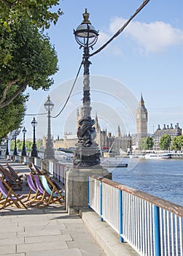
MULTIPOLYGON (((109 33, 101 33, 101 41, 112 37, 125 21, 123 18, 114 18, 109 24, 109 33)), ((122 34, 133 39, 139 45, 140 50, 147 53, 160 52, 173 45, 183 45, 183 31, 162 21, 152 23, 131 21, 122 34)))

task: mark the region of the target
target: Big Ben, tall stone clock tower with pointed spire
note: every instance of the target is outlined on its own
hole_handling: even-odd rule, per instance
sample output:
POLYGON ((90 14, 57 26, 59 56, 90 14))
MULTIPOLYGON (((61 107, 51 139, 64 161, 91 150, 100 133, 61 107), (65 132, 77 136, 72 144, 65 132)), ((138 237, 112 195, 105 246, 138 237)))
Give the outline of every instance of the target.
POLYGON ((147 109, 144 105, 144 99, 141 94, 139 107, 136 110, 136 133, 137 133, 137 146, 141 138, 147 137, 147 109))

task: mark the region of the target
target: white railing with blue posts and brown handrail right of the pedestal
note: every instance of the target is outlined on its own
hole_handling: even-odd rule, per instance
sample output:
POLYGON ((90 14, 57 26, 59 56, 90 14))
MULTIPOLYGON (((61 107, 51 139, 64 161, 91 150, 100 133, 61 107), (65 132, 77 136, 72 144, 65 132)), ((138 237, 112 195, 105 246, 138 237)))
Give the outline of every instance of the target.
POLYGON ((88 179, 87 203, 139 255, 182 256, 183 207, 107 178, 88 179))

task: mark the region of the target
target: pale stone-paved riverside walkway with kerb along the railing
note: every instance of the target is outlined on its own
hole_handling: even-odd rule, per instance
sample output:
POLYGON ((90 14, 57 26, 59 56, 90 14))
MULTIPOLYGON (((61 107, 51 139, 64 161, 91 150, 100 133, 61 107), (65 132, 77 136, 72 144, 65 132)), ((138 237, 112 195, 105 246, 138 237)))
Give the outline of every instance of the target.
MULTIPOLYGON (((6 162, 20 173, 30 172, 27 165, 0 159, 4 167, 6 162)), ((27 192, 25 186, 21 193, 27 192)), ((117 233, 93 211, 80 211, 79 217, 56 204, 28 210, 9 207, 0 211, 0 227, 0 255, 138 255, 128 244, 120 244, 117 233)))

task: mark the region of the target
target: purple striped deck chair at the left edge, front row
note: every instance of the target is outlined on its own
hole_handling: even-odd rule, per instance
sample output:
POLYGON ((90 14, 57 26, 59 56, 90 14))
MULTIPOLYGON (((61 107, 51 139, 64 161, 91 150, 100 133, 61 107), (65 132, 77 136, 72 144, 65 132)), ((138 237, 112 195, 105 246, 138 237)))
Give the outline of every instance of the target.
POLYGON ((16 206, 17 208, 25 208, 27 206, 23 203, 23 198, 27 197, 26 195, 17 195, 13 192, 12 188, 4 181, 3 178, 0 178, 0 209, 7 208, 8 206, 16 206))

